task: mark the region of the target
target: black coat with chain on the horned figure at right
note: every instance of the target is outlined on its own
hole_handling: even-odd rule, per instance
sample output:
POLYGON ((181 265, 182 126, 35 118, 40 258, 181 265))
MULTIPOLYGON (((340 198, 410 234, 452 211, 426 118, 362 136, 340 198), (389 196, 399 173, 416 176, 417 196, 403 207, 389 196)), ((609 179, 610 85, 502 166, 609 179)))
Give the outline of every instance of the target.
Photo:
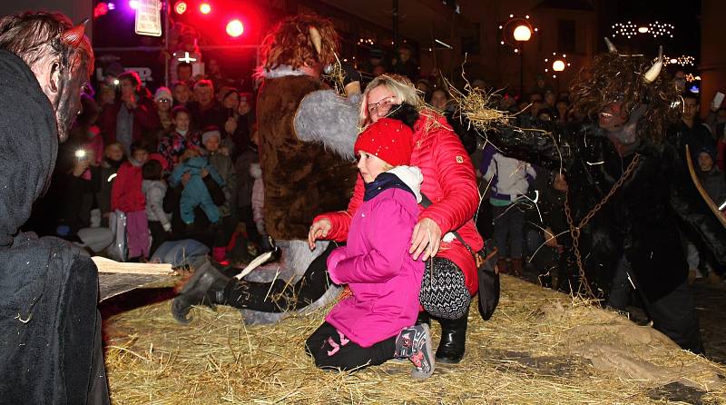
MULTIPOLYGON (((547 125, 543 129, 552 135, 505 127, 491 136, 516 159, 552 170, 562 165, 576 224, 610 192, 634 154, 621 159, 592 124, 530 124, 547 125)), ((647 300, 658 300, 680 285, 688 268, 678 222, 692 228, 717 257, 726 258, 726 229, 696 191, 675 144, 673 137, 657 144, 643 141, 636 150, 640 163, 582 229, 580 252, 596 294, 607 295, 623 254, 647 300)))

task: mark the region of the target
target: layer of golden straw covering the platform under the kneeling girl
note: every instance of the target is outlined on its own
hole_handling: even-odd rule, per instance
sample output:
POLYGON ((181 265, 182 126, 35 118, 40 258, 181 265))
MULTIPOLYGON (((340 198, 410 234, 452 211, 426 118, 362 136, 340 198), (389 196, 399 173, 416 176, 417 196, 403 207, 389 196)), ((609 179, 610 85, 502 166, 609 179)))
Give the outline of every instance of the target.
POLYGON ((409 364, 390 361, 355 373, 316 369, 302 347, 323 320, 322 310, 276 325, 245 326, 239 311, 200 308, 191 311, 191 325, 183 326, 172 319, 171 301, 163 301, 105 320, 112 399, 115 404, 726 401, 726 369, 673 348, 650 328, 508 276, 502 291, 490 321, 472 307, 464 361, 437 364, 424 381, 409 377, 409 364), (619 352, 611 356, 608 347, 619 352))

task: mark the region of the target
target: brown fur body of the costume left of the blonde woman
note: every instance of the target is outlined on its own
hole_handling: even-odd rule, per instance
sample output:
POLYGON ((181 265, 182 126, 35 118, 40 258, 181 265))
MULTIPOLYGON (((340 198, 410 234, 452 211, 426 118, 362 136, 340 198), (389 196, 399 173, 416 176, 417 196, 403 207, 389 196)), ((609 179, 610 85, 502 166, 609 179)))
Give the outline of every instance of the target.
MULTIPOLYGON (((319 79, 309 75, 266 78, 260 88, 257 119, 265 229, 277 240, 307 239, 317 214, 346 208, 356 181, 355 164, 329 152, 325 143, 301 141, 293 130, 300 101, 321 88, 319 79)), ((352 155, 352 148, 347 152, 352 155)))

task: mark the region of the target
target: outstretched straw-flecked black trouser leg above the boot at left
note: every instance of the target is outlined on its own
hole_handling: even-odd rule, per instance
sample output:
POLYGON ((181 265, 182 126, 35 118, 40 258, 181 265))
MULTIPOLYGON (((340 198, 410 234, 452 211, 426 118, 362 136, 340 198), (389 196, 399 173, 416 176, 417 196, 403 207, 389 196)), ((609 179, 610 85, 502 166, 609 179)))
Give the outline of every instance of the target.
POLYGON ((330 252, 337 245, 330 242, 328 249, 313 260, 299 282, 240 282, 232 279, 224 291, 224 303, 234 308, 263 312, 298 311, 318 301, 329 290, 328 265, 330 252))

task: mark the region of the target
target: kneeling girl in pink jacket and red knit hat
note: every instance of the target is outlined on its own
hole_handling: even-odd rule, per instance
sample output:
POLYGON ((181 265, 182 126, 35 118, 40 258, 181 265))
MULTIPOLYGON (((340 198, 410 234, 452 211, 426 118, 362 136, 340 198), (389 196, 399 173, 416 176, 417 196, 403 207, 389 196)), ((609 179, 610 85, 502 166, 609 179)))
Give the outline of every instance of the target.
POLYGON ((423 180, 417 167, 406 165, 412 135, 407 124, 383 118, 358 136, 364 203, 350 224, 347 245, 328 258, 330 280, 348 284, 353 294, 338 302, 306 342, 319 368, 357 370, 408 358, 414 378, 434 371, 428 325, 411 326, 424 273, 424 262, 408 254, 423 180))

